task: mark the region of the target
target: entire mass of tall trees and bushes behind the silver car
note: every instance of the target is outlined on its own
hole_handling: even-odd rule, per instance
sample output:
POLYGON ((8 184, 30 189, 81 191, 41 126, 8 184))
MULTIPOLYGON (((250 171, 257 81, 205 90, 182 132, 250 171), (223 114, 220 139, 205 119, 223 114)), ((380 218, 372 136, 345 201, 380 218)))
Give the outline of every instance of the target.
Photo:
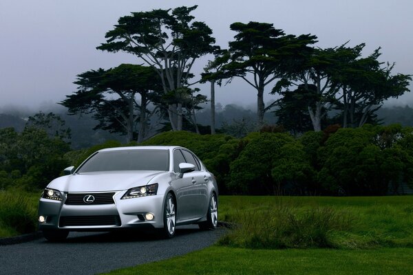
POLYGON ((76 91, 59 102, 81 115, 73 126, 40 112, 20 131, 0 129, 0 188, 44 188, 96 149, 122 146, 104 142, 109 134, 132 145, 186 146, 226 194, 385 195, 412 186, 412 109, 381 108, 410 91, 412 78, 380 61, 380 47, 367 55, 364 43, 320 48, 313 34, 235 22, 222 48, 207 23, 195 21, 196 8, 120 17, 96 49, 128 53, 131 64, 78 74, 76 91), (202 56, 210 61, 195 74, 202 56), (255 112, 216 110, 215 86, 234 78, 257 95, 255 112), (198 83, 210 84, 209 97, 198 83), (277 100, 264 102, 266 91, 277 100), (404 127, 381 126, 385 120, 404 127))

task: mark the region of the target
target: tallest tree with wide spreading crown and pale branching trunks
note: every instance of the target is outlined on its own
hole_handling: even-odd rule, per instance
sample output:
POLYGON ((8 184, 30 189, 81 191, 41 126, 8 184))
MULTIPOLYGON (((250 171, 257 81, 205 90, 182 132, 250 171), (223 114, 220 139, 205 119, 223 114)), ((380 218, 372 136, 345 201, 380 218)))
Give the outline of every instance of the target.
MULTIPOLYGON (((193 21, 195 17, 190 15, 196 8, 197 5, 193 5, 132 12, 120 17, 114 29, 105 35, 106 43, 97 49, 138 56, 158 73, 164 94, 176 94, 180 88, 191 85, 189 79, 193 76, 191 69, 195 61, 216 49, 212 30, 203 22, 193 21)), ((179 97, 169 101, 167 113, 172 129, 182 130, 179 97)))

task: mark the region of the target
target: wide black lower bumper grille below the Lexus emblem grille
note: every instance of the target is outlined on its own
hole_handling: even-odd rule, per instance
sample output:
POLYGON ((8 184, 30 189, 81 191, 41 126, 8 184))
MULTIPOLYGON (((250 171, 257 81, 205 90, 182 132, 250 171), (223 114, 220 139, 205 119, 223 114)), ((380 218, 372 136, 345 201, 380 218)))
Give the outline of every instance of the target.
POLYGON ((67 216, 61 217, 59 227, 65 226, 96 226, 96 225, 116 225, 120 226, 119 216, 67 216))

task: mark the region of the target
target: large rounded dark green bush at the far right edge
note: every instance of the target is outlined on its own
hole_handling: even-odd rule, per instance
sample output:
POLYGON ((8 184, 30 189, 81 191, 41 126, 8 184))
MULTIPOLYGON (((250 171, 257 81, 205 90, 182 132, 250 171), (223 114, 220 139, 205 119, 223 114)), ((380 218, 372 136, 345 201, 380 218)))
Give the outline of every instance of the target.
POLYGON ((387 194, 413 168, 401 140, 394 125, 339 129, 319 148, 319 183, 333 195, 387 194))

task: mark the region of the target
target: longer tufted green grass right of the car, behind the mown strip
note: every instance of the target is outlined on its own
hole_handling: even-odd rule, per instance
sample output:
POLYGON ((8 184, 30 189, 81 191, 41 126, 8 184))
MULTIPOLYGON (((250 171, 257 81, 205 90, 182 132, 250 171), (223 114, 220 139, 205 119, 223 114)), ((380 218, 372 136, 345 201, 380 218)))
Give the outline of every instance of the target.
POLYGON ((413 248, 413 197, 220 197, 239 248, 413 248))

